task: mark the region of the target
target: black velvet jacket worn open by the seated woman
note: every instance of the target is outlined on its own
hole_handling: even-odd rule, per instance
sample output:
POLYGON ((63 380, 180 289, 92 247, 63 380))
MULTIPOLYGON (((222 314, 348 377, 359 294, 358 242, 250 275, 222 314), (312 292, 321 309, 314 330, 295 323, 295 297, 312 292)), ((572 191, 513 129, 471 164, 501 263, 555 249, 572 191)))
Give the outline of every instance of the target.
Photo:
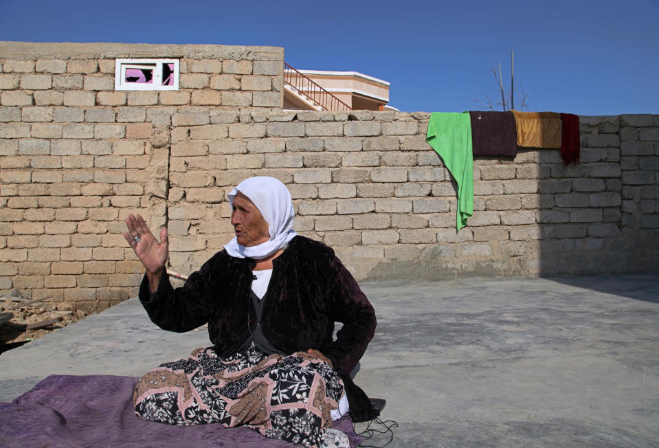
MULTIPOLYGON (((232 355, 256 326, 251 300, 255 265, 251 258, 234 258, 223 250, 181 288, 172 288, 163 276, 153 298, 144 276, 139 300, 164 330, 183 333, 208 322, 213 348, 220 356, 232 355)), ((273 346, 284 353, 322 352, 344 380, 353 420, 376 416, 366 394, 348 376, 375 333, 375 311, 334 251, 295 236, 273 260, 263 300, 261 328, 273 346), (333 340, 335 322, 343 326, 333 340)))

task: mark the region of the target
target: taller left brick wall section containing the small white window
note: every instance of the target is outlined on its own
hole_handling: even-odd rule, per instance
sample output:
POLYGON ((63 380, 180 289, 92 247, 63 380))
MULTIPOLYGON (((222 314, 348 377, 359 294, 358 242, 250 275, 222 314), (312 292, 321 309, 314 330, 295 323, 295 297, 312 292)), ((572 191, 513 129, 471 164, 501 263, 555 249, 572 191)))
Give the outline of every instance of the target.
POLYGON ((278 47, 0 43, 0 291, 96 310, 135 295, 119 232, 128 213, 165 224, 172 115, 280 110, 282 63, 278 47), (129 57, 179 59, 179 90, 115 91, 129 57))

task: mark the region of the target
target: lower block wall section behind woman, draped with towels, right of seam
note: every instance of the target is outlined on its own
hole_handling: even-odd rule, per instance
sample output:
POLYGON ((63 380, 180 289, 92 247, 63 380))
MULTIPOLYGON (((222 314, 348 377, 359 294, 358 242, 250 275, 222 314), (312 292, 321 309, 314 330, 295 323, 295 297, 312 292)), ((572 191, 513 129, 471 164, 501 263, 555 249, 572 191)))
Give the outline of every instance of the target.
POLYGON ((474 213, 456 232, 456 187, 425 142, 428 113, 172 117, 168 223, 178 271, 232 237, 227 192, 287 183, 300 234, 359 280, 659 271, 659 115, 581 117, 581 163, 559 150, 474 160, 474 213), (198 120, 197 124, 193 124, 198 120), (218 125, 220 126, 220 125, 218 125))

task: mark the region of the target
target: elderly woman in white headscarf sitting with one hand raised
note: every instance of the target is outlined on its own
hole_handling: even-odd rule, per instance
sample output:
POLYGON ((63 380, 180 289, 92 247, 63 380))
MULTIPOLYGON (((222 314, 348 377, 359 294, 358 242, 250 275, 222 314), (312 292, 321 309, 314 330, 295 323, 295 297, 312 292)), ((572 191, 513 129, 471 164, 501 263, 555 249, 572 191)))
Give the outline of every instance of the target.
POLYGON ((377 415, 348 376, 375 333, 375 312, 331 248, 293 231, 283 183, 252 177, 228 199, 235 238, 177 289, 165 269, 167 230, 158 243, 142 216, 126 219, 124 237, 146 268, 139 300, 150 319, 179 333, 208 323, 214 344, 144 375, 135 412, 334 444, 328 428, 348 407, 355 421, 377 415), (335 322, 343 324, 336 339, 335 322))

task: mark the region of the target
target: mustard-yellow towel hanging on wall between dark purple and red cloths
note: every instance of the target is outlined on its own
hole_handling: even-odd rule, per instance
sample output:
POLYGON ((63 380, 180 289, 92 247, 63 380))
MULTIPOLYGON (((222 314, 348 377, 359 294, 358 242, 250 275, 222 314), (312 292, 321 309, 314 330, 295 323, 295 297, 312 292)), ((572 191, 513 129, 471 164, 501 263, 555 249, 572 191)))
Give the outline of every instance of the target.
POLYGON ((557 112, 513 111, 517 146, 561 148, 561 114, 557 112))

